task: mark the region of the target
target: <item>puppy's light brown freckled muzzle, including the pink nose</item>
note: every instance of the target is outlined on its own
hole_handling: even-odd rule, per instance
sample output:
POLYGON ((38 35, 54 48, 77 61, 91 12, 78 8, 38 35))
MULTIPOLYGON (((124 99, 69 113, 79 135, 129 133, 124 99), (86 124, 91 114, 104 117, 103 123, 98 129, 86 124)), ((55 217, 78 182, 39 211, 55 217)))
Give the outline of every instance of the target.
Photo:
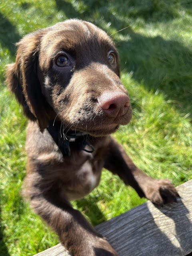
POLYGON ((132 109, 128 92, 106 65, 92 63, 74 72, 59 99, 65 94, 70 94, 70 105, 61 111, 61 117, 71 129, 94 136, 107 135, 130 122, 132 109))

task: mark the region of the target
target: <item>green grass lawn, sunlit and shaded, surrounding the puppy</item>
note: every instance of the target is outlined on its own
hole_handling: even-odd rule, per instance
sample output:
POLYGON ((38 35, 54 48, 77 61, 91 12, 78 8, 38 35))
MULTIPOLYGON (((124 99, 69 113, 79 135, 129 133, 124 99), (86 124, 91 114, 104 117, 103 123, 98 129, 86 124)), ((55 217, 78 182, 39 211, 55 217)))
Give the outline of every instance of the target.
MULTIPOLYGON (((58 243, 20 196, 27 121, 6 89, 4 66, 14 61, 14 43, 22 36, 76 17, 112 34, 120 52, 134 116, 114 136, 152 177, 176 185, 192 178, 190 0, 0 0, 1 256, 30 256, 58 243)), ((100 186, 73 205, 96 225, 144 201, 104 171, 100 186)))

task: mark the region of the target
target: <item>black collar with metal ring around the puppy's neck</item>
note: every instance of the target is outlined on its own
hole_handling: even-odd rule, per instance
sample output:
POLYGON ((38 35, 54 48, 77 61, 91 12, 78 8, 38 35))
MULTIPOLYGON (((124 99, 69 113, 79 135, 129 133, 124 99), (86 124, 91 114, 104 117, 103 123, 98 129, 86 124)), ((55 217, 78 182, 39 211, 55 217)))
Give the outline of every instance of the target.
POLYGON ((88 153, 94 151, 94 147, 87 141, 88 134, 68 129, 63 130, 63 125, 59 121, 49 122, 47 130, 61 150, 63 156, 70 156, 71 147, 77 150, 84 150, 88 153))

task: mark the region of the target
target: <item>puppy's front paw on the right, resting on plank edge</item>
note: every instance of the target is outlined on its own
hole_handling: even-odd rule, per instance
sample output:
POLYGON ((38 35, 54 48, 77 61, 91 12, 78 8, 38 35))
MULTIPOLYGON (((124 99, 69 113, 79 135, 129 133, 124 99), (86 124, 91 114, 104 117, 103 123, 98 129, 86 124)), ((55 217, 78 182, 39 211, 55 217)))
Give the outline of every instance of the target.
POLYGON ((163 205, 177 202, 180 197, 170 180, 152 180, 147 184, 146 198, 154 204, 163 205))

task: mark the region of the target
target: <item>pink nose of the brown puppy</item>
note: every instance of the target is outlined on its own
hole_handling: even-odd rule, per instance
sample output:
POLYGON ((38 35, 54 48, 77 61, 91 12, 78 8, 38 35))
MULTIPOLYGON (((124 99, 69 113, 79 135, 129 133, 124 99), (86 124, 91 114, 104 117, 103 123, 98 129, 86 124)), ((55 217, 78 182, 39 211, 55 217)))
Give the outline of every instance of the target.
POLYGON ((130 99, 123 92, 104 92, 98 98, 99 106, 103 112, 112 118, 123 116, 130 106, 130 99))

